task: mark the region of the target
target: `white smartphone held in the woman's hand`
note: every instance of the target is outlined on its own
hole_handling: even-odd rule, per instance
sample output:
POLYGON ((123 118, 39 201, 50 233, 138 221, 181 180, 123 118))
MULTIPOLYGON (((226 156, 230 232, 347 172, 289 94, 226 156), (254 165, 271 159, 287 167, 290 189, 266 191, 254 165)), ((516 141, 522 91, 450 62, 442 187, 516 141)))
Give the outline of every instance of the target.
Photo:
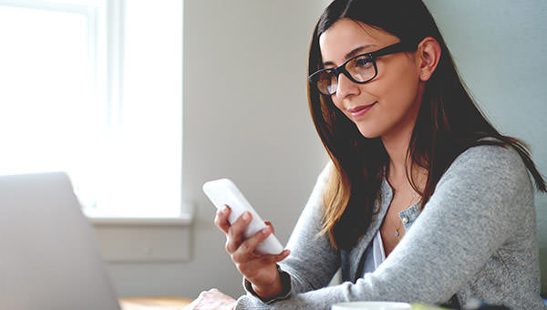
MULTIPOLYGON (((252 221, 247 225, 247 228, 243 232, 245 239, 253 236, 264 227, 266 224, 263 222, 257 212, 254 211, 251 203, 247 202, 243 193, 239 191, 237 186, 229 179, 220 179, 214 181, 208 181, 203 184, 203 191, 209 197, 212 204, 217 209, 220 209, 227 204, 232 212, 228 216, 228 222, 231 224, 237 220, 237 218, 243 214, 243 212, 250 212, 253 215, 252 221)), ((283 246, 274 233, 270 234, 262 243, 256 247, 257 253, 263 254, 279 254, 283 252, 283 246)))

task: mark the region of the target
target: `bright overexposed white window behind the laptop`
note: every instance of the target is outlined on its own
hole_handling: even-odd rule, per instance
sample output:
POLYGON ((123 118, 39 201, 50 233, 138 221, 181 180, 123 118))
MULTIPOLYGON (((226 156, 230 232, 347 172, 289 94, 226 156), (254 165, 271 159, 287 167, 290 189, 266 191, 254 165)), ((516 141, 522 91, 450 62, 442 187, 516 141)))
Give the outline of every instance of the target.
POLYGON ((0 0, 0 173, 91 216, 181 212, 182 0, 0 0))

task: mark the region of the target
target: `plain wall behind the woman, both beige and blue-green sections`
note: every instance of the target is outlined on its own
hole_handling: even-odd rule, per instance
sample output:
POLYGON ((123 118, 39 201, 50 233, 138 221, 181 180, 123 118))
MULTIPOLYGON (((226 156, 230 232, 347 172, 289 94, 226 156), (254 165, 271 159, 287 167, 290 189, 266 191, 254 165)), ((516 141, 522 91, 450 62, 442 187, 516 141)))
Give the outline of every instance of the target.
MULTIPOLYGON (((547 3, 425 2, 480 107, 503 133, 532 146, 545 173, 547 3)), ((183 195, 197 207, 191 261, 111 263, 121 296, 194 297, 212 286, 242 293, 203 181, 232 178, 286 242, 325 163, 307 112, 305 64, 326 3, 185 1, 183 195)), ((538 195, 536 205, 545 248, 547 197, 538 195)))

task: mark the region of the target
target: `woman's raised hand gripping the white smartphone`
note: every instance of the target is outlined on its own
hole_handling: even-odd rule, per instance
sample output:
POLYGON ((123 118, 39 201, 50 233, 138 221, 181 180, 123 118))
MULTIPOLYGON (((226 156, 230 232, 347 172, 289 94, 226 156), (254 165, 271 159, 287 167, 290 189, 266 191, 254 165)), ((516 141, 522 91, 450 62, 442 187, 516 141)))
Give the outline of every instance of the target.
POLYGON ((255 233, 248 239, 243 239, 243 232, 252 220, 249 212, 244 212, 233 224, 228 222, 230 207, 225 206, 216 213, 214 223, 226 234, 226 252, 232 257, 232 262, 243 276, 253 284, 253 290, 263 298, 274 297, 283 291, 281 278, 277 272, 277 262, 283 261, 289 250, 282 253, 259 254, 254 250, 271 233, 274 227, 271 222, 265 222, 266 228, 255 233))

